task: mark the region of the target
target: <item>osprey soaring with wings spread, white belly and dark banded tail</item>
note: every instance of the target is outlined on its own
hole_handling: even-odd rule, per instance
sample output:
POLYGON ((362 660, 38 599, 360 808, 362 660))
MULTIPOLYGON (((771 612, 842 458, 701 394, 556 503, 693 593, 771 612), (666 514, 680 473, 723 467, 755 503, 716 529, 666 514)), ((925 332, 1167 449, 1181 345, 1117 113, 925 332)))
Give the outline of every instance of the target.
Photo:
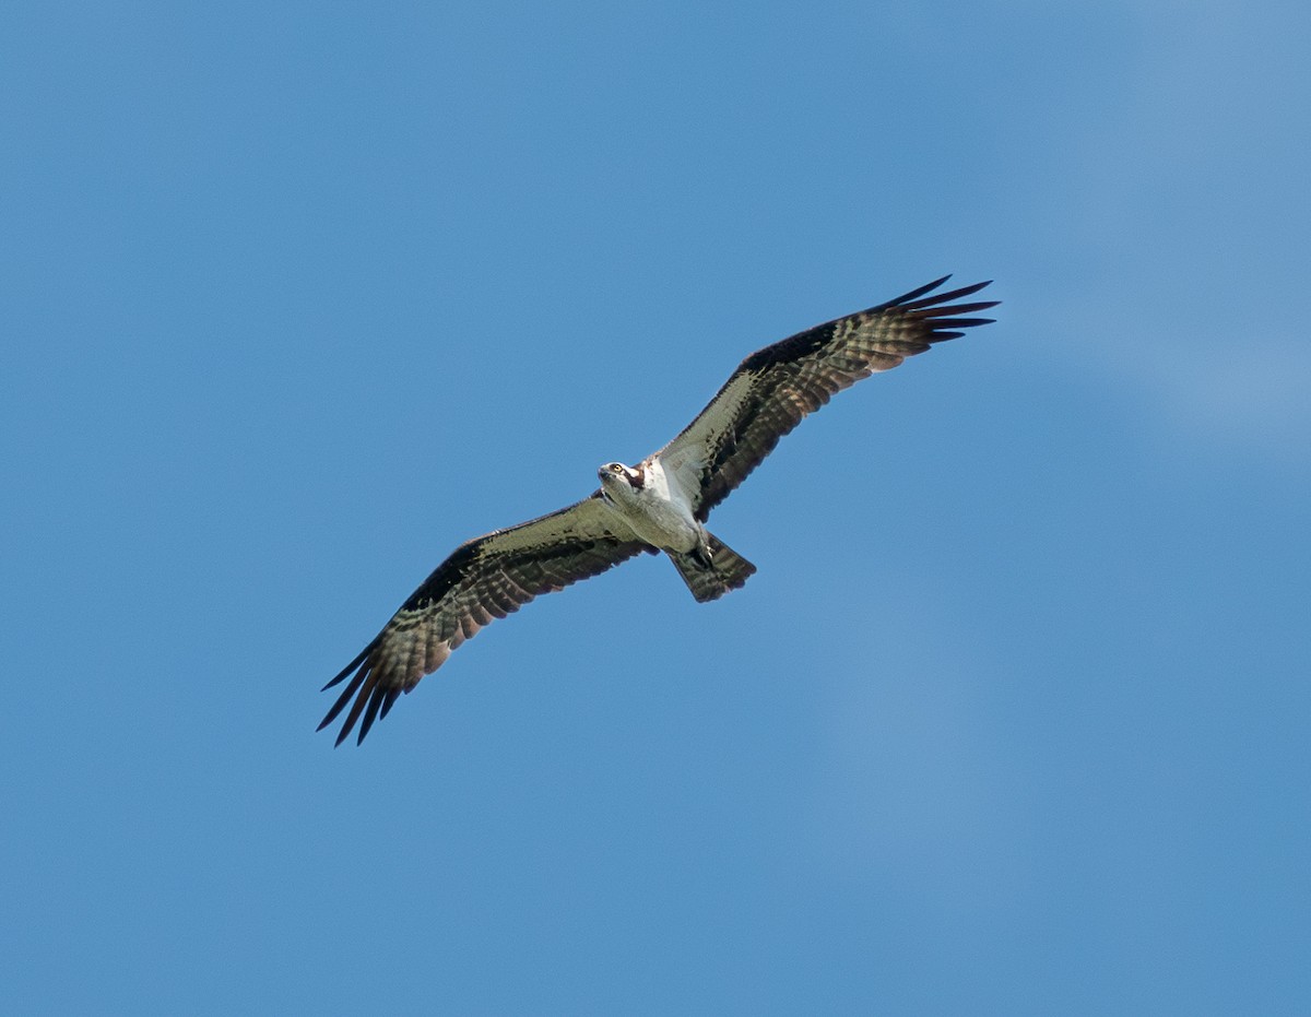
POLYGON ((358 742, 423 675, 492 619, 648 552, 665 552, 699 602, 737 590, 755 566, 705 528, 711 510, 808 413, 876 371, 992 318, 998 301, 953 304, 985 286, 932 294, 950 277, 817 325, 747 356, 673 442, 636 467, 607 463, 600 488, 540 519, 475 537, 442 562, 332 681, 350 681, 319 730, 350 705, 337 744, 358 742), (354 702, 351 702, 354 700, 354 702), (363 718, 363 720, 361 720, 363 718))

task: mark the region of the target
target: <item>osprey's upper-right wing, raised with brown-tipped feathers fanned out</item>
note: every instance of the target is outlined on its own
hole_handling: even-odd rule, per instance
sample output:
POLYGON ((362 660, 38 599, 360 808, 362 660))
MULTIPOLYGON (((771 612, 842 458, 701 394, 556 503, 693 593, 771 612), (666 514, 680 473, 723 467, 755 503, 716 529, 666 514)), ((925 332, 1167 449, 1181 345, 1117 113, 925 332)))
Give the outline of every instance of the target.
POLYGON ((886 304, 815 325, 747 356, 711 404, 657 455, 692 493, 692 511, 705 522, 783 435, 836 392, 876 371, 889 371, 932 343, 992 318, 960 317, 996 300, 952 304, 977 294, 975 283, 924 296, 949 275, 886 304))

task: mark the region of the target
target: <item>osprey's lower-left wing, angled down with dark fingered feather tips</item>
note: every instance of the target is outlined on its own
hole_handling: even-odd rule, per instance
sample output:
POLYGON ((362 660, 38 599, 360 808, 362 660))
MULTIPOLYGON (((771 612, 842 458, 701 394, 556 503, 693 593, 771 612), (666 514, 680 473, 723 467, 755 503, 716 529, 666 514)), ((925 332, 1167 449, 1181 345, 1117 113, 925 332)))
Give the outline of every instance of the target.
POLYGON ((423 581, 366 646, 326 685, 350 681, 321 731, 354 699, 337 735, 341 744, 363 716, 357 744, 396 697, 440 667, 451 651, 492 619, 503 619, 538 594, 564 590, 625 561, 646 545, 594 493, 558 512, 496 529, 459 548, 423 581))

